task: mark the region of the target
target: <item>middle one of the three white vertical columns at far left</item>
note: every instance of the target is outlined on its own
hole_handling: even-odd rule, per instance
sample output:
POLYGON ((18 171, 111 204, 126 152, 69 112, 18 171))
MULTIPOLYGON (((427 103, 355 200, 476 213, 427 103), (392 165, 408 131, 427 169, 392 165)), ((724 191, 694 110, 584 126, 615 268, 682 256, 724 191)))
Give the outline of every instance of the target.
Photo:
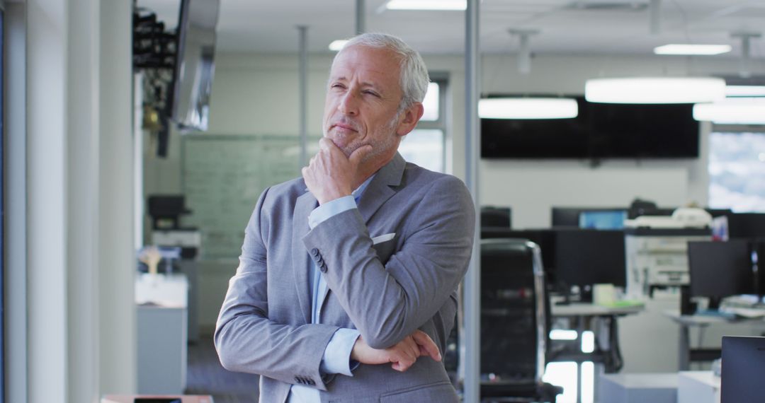
POLYGON ((98 395, 99 2, 69 0, 65 225, 68 401, 98 395))

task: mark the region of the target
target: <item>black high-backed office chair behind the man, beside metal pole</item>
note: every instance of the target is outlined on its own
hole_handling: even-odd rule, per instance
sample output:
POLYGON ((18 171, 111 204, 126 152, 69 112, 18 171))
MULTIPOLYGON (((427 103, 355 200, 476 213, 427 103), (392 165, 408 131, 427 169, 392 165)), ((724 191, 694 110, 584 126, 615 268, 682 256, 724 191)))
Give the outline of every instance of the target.
POLYGON ((550 306, 542 255, 520 239, 481 240, 481 401, 555 401, 542 382, 550 306))

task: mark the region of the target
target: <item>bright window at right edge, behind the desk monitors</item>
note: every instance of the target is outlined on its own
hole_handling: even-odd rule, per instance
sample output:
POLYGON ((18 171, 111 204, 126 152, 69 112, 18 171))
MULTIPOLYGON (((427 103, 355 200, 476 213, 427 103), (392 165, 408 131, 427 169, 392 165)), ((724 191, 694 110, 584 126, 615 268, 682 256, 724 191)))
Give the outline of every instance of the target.
POLYGON ((765 212, 765 134, 710 135, 709 207, 765 212))

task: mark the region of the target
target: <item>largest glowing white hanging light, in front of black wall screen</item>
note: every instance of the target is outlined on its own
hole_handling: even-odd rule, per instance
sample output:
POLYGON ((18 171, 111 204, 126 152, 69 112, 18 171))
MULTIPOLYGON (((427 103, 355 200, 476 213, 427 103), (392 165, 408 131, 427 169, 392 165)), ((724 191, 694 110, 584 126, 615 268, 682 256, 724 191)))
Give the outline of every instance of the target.
POLYGON ((725 80, 711 77, 588 79, 588 102, 610 104, 695 104, 725 98, 725 80))

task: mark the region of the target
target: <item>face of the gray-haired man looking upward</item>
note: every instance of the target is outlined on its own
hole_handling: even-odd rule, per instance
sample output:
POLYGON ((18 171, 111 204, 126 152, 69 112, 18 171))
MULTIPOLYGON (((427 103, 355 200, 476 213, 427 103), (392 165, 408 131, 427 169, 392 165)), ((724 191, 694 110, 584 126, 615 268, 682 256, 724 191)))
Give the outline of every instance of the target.
POLYGON ((365 160, 388 160, 412 130, 400 124, 406 112, 396 113, 403 95, 399 60, 391 50, 357 45, 334 61, 324 102, 324 137, 346 156, 371 144, 365 160))

